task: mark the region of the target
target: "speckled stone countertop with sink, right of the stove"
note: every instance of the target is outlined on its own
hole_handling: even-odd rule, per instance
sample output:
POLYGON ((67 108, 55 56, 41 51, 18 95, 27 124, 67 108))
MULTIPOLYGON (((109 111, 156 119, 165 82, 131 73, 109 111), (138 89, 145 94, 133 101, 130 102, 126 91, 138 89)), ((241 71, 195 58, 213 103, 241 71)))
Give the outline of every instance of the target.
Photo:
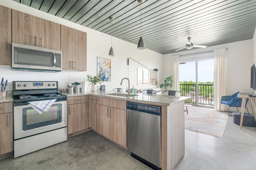
MULTIPOLYGON (((175 97, 175 96, 168 96, 168 95, 145 95, 138 93, 138 96, 112 96, 108 94, 118 94, 113 91, 97 91, 97 92, 80 92, 73 93, 73 94, 65 94, 67 97, 72 96, 84 96, 84 95, 93 95, 99 97, 106 97, 109 99, 118 99, 118 100, 125 100, 125 101, 132 101, 132 102, 139 102, 139 103, 147 103, 147 104, 156 104, 156 105, 173 105, 179 103, 181 101, 185 101, 191 99, 191 97, 175 97)), ((122 94, 127 94, 123 92, 122 94)))

